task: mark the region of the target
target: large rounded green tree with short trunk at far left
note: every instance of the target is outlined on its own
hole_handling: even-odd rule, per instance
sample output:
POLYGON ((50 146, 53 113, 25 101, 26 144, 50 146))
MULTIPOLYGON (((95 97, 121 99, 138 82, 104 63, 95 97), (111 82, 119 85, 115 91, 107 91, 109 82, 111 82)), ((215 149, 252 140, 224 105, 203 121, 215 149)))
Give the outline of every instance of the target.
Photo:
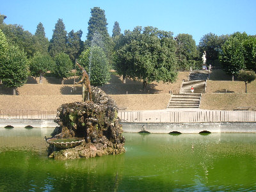
POLYGON ((15 89, 28 79, 28 61, 26 54, 19 47, 10 45, 0 62, 0 79, 4 86, 15 89))

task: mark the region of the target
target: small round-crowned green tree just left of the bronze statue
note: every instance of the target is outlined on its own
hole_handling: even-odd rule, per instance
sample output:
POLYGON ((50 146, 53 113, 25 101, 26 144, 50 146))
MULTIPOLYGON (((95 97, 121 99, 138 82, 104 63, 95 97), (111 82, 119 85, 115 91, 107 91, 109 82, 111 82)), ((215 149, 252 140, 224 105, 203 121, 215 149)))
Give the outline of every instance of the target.
POLYGON ((67 78, 73 68, 72 61, 68 54, 63 52, 56 54, 54 74, 62 79, 61 84, 64 84, 64 78, 67 78))

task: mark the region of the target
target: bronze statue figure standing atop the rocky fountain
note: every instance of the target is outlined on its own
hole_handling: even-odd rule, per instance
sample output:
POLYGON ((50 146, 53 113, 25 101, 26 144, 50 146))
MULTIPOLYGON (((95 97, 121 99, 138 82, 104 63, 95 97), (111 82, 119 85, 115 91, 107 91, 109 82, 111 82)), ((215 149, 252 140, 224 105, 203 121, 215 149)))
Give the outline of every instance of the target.
POLYGON ((82 97, 83 97, 83 102, 85 102, 85 93, 86 93, 86 88, 89 92, 89 98, 90 101, 92 101, 92 92, 91 92, 91 84, 90 84, 90 79, 89 76, 86 72, 86 70, 84 70, 83 67, 81 67, 81 65, 79 65, 78 62, 76 62, 77 66, 81 69, 82 71, 82 78, 80 81, 76 82, 76 84, 78 83, 82 83, 82 97))

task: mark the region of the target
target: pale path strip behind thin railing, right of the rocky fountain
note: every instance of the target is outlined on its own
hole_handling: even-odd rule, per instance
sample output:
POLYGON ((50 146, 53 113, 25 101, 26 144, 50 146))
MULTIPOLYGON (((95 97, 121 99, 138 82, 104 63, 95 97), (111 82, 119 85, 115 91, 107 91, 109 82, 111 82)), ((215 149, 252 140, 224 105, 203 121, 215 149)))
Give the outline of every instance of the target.
POLYGON ((256 122, 256 111, 119 111, 118 117, 131 123, 256 122))

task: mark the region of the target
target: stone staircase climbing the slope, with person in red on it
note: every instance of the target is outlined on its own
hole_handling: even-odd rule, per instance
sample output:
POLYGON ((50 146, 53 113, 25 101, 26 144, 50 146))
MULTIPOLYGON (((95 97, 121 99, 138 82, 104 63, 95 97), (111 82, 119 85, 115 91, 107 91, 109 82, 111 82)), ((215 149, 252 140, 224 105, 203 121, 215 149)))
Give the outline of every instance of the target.
POLYGON ((179 94, 172 94, 167 108, 199 108, 201 95, 205 91, 209 70, 193 70, 189 79, 182 82, 179 94), (191 86, 194 93, 191 93, 191 86))

